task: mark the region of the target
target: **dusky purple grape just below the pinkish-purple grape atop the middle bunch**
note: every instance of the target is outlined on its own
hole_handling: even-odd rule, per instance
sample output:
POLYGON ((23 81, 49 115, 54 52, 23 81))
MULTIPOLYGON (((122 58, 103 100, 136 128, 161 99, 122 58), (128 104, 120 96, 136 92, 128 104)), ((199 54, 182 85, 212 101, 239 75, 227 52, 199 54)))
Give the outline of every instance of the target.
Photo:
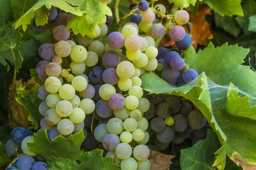
POLYGON ((102 55, 102 63, 106 67, 116 67, 120 60, 120 56, 114 51, 108 51, 102 55))

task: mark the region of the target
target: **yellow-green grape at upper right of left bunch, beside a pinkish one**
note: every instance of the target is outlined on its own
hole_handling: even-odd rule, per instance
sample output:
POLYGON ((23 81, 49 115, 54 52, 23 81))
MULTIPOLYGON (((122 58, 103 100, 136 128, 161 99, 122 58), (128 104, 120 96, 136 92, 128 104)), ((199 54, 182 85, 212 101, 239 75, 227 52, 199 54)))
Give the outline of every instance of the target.
POLYGON ((74 62, 84 62, 87 58, 87 50, 84 46, 76 45, 70 52, 70 57, 74 62))

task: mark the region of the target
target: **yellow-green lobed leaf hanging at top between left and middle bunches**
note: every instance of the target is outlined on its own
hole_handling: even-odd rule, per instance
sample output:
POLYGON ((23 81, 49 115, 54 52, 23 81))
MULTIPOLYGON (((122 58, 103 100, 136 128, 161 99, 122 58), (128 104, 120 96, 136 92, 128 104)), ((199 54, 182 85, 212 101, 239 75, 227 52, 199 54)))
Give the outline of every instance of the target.
POLYGON ((104 23, 105 15, 112 16, 112 12, 106 4, 97 0, 85 1, 85 3, 82 10, 87 11, 87 13, 81 17, 74 15, 68 22, 67 28, 72 29, 74 34, 93 36, 96 24, 104 23))

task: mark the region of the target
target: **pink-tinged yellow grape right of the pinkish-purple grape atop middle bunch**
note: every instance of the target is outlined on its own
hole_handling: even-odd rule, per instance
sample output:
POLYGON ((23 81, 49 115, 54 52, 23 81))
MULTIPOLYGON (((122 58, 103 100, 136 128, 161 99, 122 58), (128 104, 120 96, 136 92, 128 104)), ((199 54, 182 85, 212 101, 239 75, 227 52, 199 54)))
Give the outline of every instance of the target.
POLYGON ((137 35, 127 36, 127 38, 125 38, 124 45, 127 50, 130 50, 133 52, 140 50, 141 48, 140 36, 137 36, 137 35))

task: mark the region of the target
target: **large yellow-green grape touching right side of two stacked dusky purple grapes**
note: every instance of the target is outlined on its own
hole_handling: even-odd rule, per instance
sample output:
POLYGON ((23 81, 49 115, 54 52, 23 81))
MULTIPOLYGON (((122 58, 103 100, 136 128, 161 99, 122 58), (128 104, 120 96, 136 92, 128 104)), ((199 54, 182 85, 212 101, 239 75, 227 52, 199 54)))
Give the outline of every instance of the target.
POLYGON ((122 61, 116 67, 116 74, 121 79, 131 78, 135 72, 133 64, 129 61, 122 61))

